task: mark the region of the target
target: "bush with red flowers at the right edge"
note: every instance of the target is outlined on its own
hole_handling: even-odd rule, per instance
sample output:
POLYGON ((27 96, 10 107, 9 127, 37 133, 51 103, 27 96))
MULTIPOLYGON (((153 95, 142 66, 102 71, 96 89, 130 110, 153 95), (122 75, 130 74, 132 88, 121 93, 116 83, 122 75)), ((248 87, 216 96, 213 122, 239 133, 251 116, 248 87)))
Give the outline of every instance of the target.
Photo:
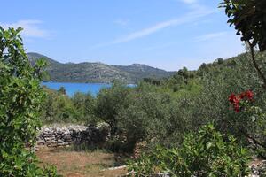
POLYGON ((244 135, 247 142, 262 158, 266 158, 266 113, 255 105, 254 93, 250 90, 229 96, 229 102, 235 112, 240 113, 233 121, 238 132, 244 135))

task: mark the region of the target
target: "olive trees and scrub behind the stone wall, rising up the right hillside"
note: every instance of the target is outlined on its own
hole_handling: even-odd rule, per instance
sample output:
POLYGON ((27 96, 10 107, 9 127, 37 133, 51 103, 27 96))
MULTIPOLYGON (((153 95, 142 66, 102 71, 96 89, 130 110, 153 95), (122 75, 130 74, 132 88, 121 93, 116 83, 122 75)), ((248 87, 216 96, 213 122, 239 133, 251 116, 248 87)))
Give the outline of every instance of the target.
MULTIPOLYGON (((265 65, 265 54, 257 57, 260 65, 265 65)), ((214 121, 224 134, 235 135, 244 145, 250 142, 243 131, 250 137, 260 137, 259 142, 263 142, 263 126, 244 115, 240 118, 230 110, 227 100, 232 92, 252 89, 254 105, 265 112, 262 81, 246 53, 223 62, 219 60, 198 71, 184 68, 172 78, 160 81, 160 85, 149 80, 140 82, 136 88, 127 88, 116 82, 112 88, 101 90, 97 97, 76 93, 69 98, 46 89, 49 99, 43 107, 46 110, 43 121, 93 124, 105 121, 112 127, 107 147, 114 151, 131 151, 141 141, 149 142, 149 147, 156 144, 175 147, 183 141, 184 134, 209 121, 214 121)), ((260 146, 255 147, 258 147, 256 154, 264 154, 260 146)))

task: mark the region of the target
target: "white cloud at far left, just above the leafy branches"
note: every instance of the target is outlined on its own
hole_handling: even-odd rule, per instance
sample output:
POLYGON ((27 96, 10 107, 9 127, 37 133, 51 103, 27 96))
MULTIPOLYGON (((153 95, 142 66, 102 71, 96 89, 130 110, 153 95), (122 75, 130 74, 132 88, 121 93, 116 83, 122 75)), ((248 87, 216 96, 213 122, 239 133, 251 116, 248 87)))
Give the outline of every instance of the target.
POLYGON ((39 27, 40 24, 42 24, 43 21, 40 20, 20 20, 15 23, 1 23, 0 26, 4 28, 8 27, 22 27, 23 31, 21 32, 21 35, 24 35, 25 37, 38 37, 38 38, 48 38, 50 37, 50 33, 47 30, 42 29, 39 27))

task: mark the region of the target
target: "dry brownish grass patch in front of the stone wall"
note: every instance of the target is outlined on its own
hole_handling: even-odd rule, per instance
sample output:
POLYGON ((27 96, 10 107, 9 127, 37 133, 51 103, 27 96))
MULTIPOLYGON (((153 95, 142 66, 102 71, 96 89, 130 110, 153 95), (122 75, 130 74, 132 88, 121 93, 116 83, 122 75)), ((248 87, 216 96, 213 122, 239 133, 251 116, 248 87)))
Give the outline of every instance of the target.
POLYGON ((127 173, 126 169, 107 170, 116 165, 123 165, 124 158, 104 150, 42 148, 36 155, 41 165, 56 165, 58 173, 67 177, 113 177, 127 173))

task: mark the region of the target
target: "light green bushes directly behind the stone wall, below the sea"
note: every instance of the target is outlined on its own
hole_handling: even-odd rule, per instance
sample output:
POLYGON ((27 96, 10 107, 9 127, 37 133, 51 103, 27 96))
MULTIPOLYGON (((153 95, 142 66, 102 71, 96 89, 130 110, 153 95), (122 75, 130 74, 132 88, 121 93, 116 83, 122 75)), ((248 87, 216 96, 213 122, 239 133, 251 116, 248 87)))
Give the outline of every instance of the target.
POLYGON ((64 92, 44 87, 46 98, 43 102, 43 123, 90 123, 95 124, 95 97, 88 94, 75 93, 68 97, 64 92))

